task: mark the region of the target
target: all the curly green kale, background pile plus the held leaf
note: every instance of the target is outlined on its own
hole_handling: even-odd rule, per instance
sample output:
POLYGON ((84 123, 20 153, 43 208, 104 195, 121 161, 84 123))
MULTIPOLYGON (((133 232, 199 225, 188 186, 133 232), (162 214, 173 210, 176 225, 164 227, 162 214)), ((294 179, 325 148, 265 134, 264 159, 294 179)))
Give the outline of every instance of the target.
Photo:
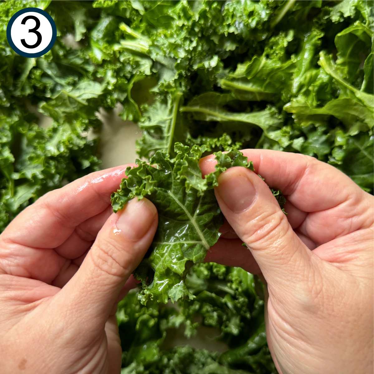
POLYGON ((373 24, 364 0, 0 2, 0 230, 42 194, 99 168, 101 108, 122 105, 120 116, 142 130, 140 158, 157 165, 138 162, 113 196, 115 209, 147 196, 165 213, 137 269, 144 288, 119 308, 125 373, 275 373, 256 332, 252 276, 188 269, 218 239, 212 187, 224 168, 246 163, 235 149, 308 154, 373 192, 373 24), (18 56, 6 40, 24 7, 45 9, 58 28, 39 58, 18 56), (199 157, 229 148, 202 179, 199 157), (169 298, 178 303, 165 306, 169 298), (216 328, 227 352, 168 349, 182 325, 188 336, 216 328))

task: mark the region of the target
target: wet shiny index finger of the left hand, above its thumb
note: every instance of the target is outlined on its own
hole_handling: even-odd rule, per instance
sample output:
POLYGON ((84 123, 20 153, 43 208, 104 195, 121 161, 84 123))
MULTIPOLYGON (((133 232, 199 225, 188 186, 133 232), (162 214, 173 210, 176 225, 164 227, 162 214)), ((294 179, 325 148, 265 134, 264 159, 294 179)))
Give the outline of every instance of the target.
POLYGON ((110 205, 110 194, 125 177, 127 166, 132 165, 94 172, 45 194, 9 224, 2 233, 4 240, 37 248, 61 245, 76 226, 110 205))

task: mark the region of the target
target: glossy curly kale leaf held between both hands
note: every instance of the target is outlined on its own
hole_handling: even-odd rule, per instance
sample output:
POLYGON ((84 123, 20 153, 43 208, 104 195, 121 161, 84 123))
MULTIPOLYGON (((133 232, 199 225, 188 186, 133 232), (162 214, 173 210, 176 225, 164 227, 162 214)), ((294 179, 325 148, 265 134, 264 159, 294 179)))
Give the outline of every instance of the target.
POLYGON ((150 164, 137 160, 137 168, 127 169, 127 178, 112 195, 115 212, 134 197, 147 197, 159 213, 150 254, 135 272, 144 286, 140 294, 143 303, 149 299, 166 303, 168 299, 193 298, 184 282, 187 270, 190 264, 204 260, 223 223, 212 189, 217 186, 217 177, 231 166, 253 170, 239 151, 218 152, 216 171, 203 178, 199 159, 206 150, 205 145, 189 148, 177 143, 174 159, 157 151, 150 164))

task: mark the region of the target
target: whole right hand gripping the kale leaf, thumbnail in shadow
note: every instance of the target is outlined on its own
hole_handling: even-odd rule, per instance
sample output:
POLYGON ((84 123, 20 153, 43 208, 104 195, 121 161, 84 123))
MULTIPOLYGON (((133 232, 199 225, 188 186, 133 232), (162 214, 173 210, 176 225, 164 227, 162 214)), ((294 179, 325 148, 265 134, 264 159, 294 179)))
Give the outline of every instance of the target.
MULTIPOLYGON (((312 157, 242 152, 266 183, 245 168, 220 175, 215 195, 234 232, 223 227, 206 261, 261 270, 279 373, 373 373, 373 196, 312 157), (285 195, 287 215, 267 184, 285 195)), ((203 174, 214 165, 200 162, 203 174)))

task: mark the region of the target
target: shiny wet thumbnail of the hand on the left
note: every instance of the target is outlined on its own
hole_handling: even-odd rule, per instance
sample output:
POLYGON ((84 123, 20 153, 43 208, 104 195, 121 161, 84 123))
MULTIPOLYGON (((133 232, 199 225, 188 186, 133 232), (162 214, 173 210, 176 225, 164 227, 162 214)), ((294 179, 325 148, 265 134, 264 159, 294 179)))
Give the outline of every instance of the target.
POLYGON ((132 199, 125 208, 117 213, 117 229, 130 240, 141 239, 155 220, 156 207, 147 199, 132 199))

